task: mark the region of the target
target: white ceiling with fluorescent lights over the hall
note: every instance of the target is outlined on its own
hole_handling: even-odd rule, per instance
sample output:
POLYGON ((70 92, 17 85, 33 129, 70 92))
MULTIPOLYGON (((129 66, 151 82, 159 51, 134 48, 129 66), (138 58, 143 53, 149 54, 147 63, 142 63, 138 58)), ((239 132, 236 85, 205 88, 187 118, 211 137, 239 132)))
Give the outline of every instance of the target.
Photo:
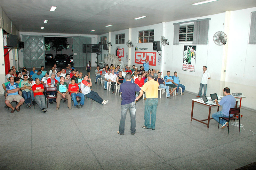
POLYGON ((200 1, 1 0, 0 6, 22 32, 93 35, 256 6, 256 0, 219 0, 191 5, 200 1), (49 11, 51 6, 57 6, 55 12, 49 11), (140 16, 147 17, 133 19, 140 16), (48 23, 43 23, 44 19, 49 20, 48 23), (105 27, 109 24, 114 26, 105 27))

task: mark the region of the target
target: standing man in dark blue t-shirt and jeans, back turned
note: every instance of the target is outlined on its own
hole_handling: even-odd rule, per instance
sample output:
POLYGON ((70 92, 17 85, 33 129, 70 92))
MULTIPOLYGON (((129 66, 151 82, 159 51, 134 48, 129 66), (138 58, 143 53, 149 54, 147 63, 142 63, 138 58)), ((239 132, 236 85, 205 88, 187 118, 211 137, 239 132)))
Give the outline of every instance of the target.
POLYGON ((125 119, 126 119, 126 113, 129 110, 130 111, 130 117, 131 117, 131 133, 132 135, 135 134, 135 127, 136 127, 136 104, 135 101, 138 100, 142 94, 143 91, 140 89, 140 87, 137 84, 134 84, 131 82, 132 75, 126 74, 125 75, 126 81, 120 85, 120 92, 122 93, 122 102, 121 102, 121 120, 119 124, 119 131, 117 131, 118 134, 124 135, 124 125, 125 125, 125 119), (140 92, 140 95, 138 97, 135 97, 135 92, 140 92))

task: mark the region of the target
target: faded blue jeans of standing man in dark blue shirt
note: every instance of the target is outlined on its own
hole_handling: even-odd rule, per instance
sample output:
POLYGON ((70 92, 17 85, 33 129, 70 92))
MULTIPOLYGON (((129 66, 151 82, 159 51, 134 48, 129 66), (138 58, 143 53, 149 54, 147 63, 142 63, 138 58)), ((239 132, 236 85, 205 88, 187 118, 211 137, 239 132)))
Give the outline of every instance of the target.
POLYGON ((125 119, 126 119, 126 113, 129 110, 130 117, 131 117, 131 133, 135 133, 136 131, 136 104, 135 102, 129 103, 129 104, 122 104, 121 105, 121 120, 119 124, 119 132, 121 134, 124 133, 124 125, 125 125, 125 119))

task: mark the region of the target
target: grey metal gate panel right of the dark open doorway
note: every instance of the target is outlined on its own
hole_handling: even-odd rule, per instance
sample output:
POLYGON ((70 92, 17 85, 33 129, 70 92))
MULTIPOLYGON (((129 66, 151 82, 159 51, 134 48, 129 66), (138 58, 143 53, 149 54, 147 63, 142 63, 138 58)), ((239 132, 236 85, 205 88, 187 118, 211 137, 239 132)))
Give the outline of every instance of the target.
POLYGON ((92 38, 73 37, 73 62, 74 67, 84 67, 88 61, 92 60, 91 53, 83 53, 83 44, 91 44, 92 38), (76 54, 76 55, 75 55, 76 54))

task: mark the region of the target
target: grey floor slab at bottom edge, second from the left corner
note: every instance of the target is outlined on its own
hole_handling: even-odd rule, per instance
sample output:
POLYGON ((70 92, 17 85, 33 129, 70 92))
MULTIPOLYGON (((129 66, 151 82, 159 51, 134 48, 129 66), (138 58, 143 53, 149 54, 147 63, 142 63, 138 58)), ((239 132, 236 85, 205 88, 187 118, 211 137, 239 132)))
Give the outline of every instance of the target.
POLYGON ((102 169, 85 142, 32 149, 31 169, 102 169))

